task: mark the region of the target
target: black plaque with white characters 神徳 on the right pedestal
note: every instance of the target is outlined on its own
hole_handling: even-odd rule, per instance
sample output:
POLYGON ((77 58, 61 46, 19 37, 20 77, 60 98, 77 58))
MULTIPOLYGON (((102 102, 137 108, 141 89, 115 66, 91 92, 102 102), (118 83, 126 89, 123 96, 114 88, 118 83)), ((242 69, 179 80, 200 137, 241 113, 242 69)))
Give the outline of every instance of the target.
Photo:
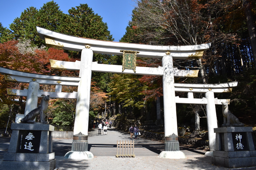
POLYGON ((246 132, 232 132, 234 151, 247 151, 247 135, 246 132))

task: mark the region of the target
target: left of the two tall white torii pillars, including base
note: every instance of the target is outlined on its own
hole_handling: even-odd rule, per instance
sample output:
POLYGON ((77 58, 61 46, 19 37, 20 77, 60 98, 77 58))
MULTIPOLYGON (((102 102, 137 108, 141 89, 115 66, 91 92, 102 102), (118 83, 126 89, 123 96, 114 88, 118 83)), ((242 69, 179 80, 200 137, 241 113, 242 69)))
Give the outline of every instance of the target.
POLYGON ((68 159, 92 159, 93 154, 88 151, 88 122, 89 122, 89 106, 92 78, 92 61, 93 51, 91 49, 83 49, 81 53, 81 63, 79 77, 81 77, 78 85, 78 94, 76 100, 74 134, 72 141, 72 149, 66 153, 65 158, 68 159))

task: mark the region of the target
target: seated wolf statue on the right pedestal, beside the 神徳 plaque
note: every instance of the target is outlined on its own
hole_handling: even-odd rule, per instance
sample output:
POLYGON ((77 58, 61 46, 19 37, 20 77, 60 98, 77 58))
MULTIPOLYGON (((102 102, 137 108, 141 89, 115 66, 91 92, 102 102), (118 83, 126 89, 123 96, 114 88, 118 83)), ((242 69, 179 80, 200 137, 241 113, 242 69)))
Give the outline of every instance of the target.
POLYGON ((244 126, 243 123, 239 121, 235 115, 233 115, 228 109, 228 101, 222 103, 222 114, 223 114, 223 124, 222 127, 227 126, 244 126))

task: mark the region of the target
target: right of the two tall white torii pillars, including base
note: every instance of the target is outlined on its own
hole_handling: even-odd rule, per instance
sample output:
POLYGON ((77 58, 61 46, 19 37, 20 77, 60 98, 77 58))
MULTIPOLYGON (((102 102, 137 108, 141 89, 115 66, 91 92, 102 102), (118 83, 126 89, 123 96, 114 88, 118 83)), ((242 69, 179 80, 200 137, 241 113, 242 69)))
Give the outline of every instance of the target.
POLYGON ((180 151, 178 140, 178 125, 176 115, 174 71, 172 55, 164 55, 163 66, 163 108, 164 108, 164 151, 159 154, 160 158, 180 159, 185 154, 180 151))

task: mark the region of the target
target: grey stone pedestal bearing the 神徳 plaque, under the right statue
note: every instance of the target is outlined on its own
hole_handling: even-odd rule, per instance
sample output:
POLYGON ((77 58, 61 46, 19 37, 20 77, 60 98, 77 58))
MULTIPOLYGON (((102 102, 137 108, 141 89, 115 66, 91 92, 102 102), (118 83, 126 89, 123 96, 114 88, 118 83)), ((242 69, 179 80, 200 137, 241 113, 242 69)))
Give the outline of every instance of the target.
POLYGON ((214 128, 216 151, 212 163, 227 168, 256 166, 252 127, 214 128))

